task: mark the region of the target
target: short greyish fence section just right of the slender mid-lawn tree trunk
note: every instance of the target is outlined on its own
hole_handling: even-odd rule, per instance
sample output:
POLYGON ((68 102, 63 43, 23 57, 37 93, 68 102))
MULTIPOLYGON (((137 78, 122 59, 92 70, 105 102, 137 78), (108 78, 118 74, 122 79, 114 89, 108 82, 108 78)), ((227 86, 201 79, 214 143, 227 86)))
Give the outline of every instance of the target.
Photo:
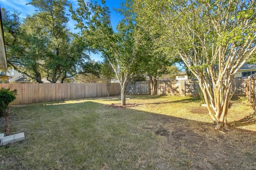
POLYGON ((127 85, 127 88, 126 88, 126 94, 148 95, 149 93, 150 93, 150 83, 148 81, 131 82, 127 85))

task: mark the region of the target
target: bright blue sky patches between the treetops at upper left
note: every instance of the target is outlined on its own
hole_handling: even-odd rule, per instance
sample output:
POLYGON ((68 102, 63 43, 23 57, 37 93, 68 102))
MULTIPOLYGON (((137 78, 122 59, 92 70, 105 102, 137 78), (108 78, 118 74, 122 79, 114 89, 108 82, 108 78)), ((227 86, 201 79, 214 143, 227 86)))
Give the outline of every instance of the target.
MULTIPOLYGON (((73 9, 78 7, 77 0, 68 0, 72 5, 73 9)), ((35 7, 32 5, 26 5, 27 3, 31 2, 31 0, 0 0, 1 7, 5 7, 9 11, 17 10, 20 12, 20 16, 22 18, 26 18, 26 15, 31 15, 35 11, 35 7)), ((100 0, 98 0, 100 2, 100 0)), ((122 19, 122 16, 113 11, 113 8, 120 7, 121 0, 106 0, 106 5, 109 7, 109 10, 111 11, 111 24, 113 28, 115 29, 117 26, 117 23, 122 19)), ((68 10, 67 10, 68 12, 68 10)), ((74 25, 76 22, 71 19, 71 16, 69 17, 68 27, 69 29, 76 33, 79 30, 74 29, 74 25)), ((100 54, 91 54, 91 58, 95 61, 102 61, 103 58, 101 58, 100 54)))

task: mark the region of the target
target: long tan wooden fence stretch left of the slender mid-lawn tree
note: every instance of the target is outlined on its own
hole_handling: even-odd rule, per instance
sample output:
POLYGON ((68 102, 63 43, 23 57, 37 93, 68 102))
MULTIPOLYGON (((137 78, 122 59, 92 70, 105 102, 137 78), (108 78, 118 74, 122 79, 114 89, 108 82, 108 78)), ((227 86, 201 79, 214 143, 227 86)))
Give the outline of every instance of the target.
MULTIPOLYGON (((86 97, 107 96, 105 83, 15 83, 0 84, 0 88, 17 89, 17 99, 11 104, 58 101, 65 99, 82 99, 86 97)), ((111 83, 110 95, 119 95, 119 83, 111 83)))

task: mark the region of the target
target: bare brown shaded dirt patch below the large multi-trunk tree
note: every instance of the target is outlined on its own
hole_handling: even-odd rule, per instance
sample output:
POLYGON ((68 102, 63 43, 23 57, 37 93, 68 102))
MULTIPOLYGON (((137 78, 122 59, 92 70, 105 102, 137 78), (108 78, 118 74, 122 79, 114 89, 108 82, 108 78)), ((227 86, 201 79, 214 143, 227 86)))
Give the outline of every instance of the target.
POLYGON ((156 147, 170 152, 174 162, 188 169, 256 169, 255 132, 230 126, 232 131, 223 134, 213 124, 155 114, 144 128, 165 137, 156 147), (179 162, 180 158, 186 162, 179 162))

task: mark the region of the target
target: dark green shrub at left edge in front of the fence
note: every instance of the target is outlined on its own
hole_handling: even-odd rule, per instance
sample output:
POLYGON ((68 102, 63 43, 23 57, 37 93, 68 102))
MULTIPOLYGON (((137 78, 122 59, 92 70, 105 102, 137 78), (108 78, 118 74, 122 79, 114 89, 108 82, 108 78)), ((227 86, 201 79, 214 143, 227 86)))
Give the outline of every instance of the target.
POLYGON ((6 108, 10 102, 16 99, 17 90, 10 90, 9 88, 0 89, 0 117, 3 117, 6 108))

